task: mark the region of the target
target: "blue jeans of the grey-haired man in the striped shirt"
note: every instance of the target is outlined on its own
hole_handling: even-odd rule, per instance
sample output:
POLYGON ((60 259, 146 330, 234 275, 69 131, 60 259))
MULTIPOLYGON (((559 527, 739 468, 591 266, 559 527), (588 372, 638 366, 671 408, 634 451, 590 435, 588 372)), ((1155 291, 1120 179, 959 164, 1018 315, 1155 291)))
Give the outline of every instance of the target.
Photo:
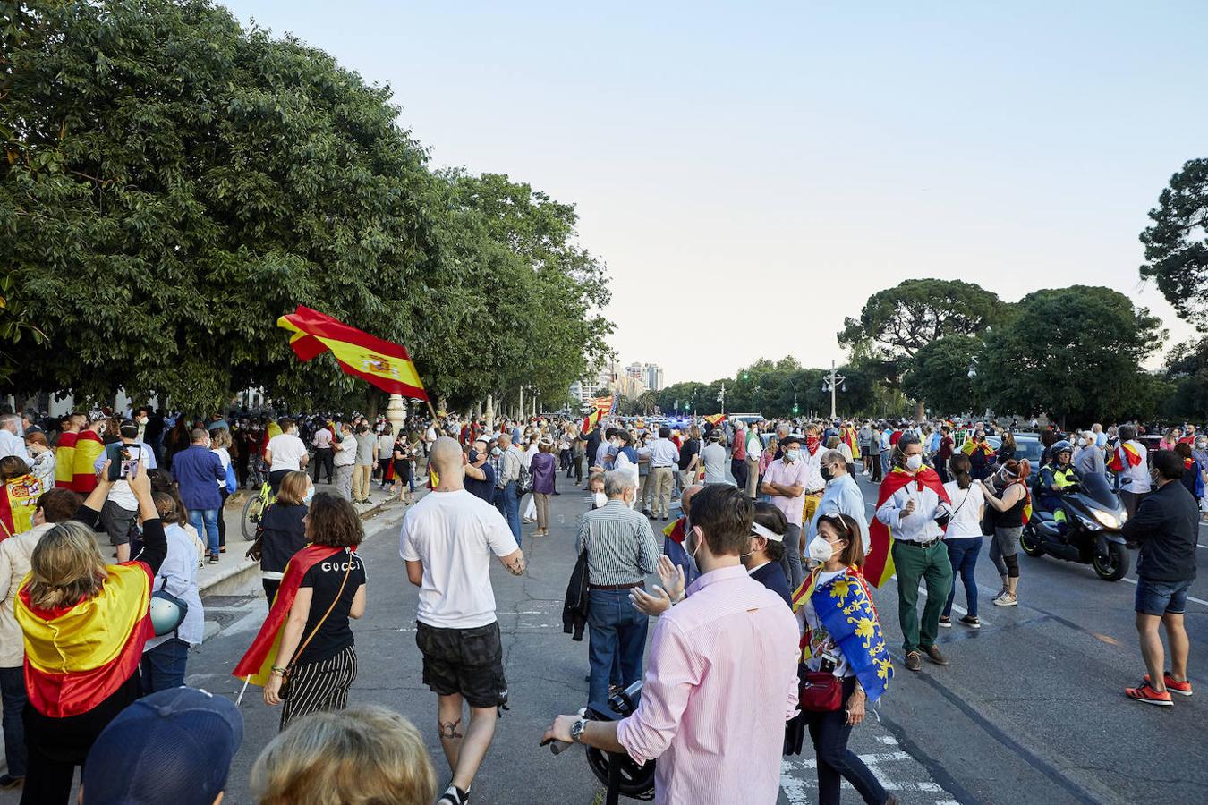
POLYGON ((641 655, 646 651, 649 619, 629 603, 629 590, 588 590, 587 659, 591 663, 587 701, 608 701, 615 658, 621 659, 621 684, 641 678, 641 655))

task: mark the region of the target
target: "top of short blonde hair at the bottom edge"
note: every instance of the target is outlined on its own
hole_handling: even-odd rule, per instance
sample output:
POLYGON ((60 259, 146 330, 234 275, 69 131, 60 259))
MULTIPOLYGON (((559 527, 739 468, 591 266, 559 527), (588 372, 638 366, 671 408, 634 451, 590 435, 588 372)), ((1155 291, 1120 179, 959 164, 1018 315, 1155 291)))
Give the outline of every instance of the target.
POLYGON ((251 769, 259 805, 431 805, 436 772, 419 730, 366 705, 297 719, 251 769))

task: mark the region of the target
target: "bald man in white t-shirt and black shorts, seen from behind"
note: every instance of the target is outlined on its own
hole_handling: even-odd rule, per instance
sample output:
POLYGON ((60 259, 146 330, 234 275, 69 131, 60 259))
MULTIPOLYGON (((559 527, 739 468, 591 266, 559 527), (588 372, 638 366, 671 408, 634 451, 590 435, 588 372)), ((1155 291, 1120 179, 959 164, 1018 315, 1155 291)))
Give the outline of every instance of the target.
POLYGON ((524 573, 525 561, 499 511, 465 490, 457 441, 436 439, 429 462, 440 483, 403 518, 399 555, 419 588, 416 643, 424 681, 437 696, 441 746, 453 772, 437 805, 463 805, 495 734, 498 707, 507 701, 490 556, 513 576, 524 573), (470 705, 467 728, 463 699, 470 705))

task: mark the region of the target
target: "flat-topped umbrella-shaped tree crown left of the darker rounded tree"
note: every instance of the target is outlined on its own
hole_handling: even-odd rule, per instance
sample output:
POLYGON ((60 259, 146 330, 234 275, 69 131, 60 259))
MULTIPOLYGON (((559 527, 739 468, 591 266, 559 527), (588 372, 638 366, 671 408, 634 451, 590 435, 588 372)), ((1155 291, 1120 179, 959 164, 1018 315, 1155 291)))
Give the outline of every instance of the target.
POLYGON ((887 357, 913 357, 945 336, 976 336, 1001 322, 1006 311, 997 294, 972 282, 905 280, 869 297, 858 320, 844 320, 838 343, 855 346, 867 342, 885 350, 887 357))

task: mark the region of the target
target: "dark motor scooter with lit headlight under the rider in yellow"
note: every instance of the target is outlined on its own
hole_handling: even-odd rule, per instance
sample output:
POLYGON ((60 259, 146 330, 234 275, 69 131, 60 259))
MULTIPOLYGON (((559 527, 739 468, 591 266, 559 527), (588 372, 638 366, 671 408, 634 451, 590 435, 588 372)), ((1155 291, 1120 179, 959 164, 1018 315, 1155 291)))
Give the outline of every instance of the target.
POLYGON ((1064 524, 1052 512, 1035 506, 1039 490, 1033 492, 1032 519, 1020 533, 1020 547, 1029 556, 1052 554, 1065 561, 1094 568, 1105 582, 1119 582, 1128 573, 1128 547, 1120 533, 1128 514, 1108 485, 1107 477, 1088 474, 1078 486, 1063 492, 1058 504, 1065 513, 1064 524))

